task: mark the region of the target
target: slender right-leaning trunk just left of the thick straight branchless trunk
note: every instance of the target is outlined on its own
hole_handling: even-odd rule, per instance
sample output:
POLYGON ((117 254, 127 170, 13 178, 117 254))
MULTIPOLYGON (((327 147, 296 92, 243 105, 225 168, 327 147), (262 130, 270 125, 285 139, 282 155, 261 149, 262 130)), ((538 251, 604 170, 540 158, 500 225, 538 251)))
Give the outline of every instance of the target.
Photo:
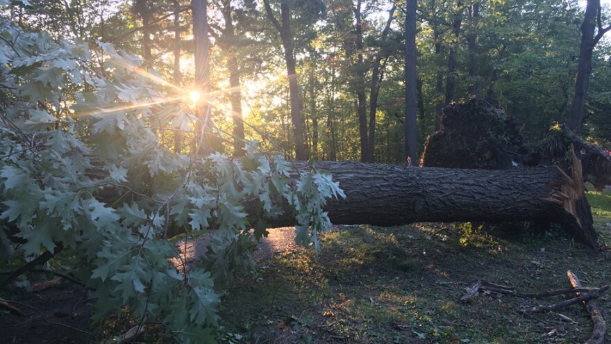
MULTIPOLYGON (((392 8, 390 8, 390 11, 388 11, 386 26, 384 26, 384 30, 382 31, 382 42, 385 42, 388 38, 388 32, 390 31, 390 24, 392 24, 394 10, 396 10, 396 5, 393 5, 392 8)), ((376 113, 378 112, 380 83, 383 80, 386 59, 387 55, 383 56, 382 51, 378 52, 374 60, 374 68, 371 72, 371 90, 369 91, 369 140, 367 147, 367 153, 369 154, 367 161, 369 161, 369 163, 376 162, 376 113), (384 60, 384 63, 382 60, 384 60)))

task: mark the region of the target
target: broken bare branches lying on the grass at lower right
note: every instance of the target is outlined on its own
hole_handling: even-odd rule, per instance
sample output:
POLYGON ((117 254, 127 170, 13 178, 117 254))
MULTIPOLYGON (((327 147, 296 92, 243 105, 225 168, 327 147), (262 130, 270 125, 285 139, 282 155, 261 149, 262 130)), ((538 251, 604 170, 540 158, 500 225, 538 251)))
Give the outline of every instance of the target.
POLYGON ((585 308, 587 309, 590 318, 592 318, 592 336, 585 342, 585 344, 603 344, 605 343, 605 331, 607 331, 607 324, 605 319, 603 318, 603 314, 599 309, 598 305, 593 301, 596 297, 599 297, 602 293, 609 289, 609 286, 601 286, 600 288, 584 288, 577 276, 571 272, 571 270, 567 271, 567 275, 569 277, 569 281, 571 281, 571 286, 573 288, 562 288, 555 290, 547 290, 539 293, 523 293, 516 290, 513 286, 503 286, 501 284, 494 284, 487 281, 479 280, 474 284, 473 287, 469 288, 466 294, 464 294, 460 301, 467 303, 475 295, 479 290, 483 290, 487 293, 499 293, 503 295, 513 295, 517 297, 549 297, 555 295, 563 295, 563 294, 575 294, 575 297, 565 300, 562 302, 558 302, 556 304, 550 305, 540 305, 534 306, 526 309, 521 309, 521 313, 535 313, 541 311, 553 311, 556 309, 561 309, 571 304, 583 303, 585 308))

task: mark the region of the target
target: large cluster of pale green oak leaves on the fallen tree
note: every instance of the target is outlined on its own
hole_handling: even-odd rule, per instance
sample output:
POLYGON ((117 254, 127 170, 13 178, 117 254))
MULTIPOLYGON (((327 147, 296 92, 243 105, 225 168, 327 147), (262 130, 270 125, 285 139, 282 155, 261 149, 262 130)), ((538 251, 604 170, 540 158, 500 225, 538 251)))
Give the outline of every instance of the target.
POLYGON ((53 264, 94 290, 97 318, 128 304, 201 343, 215 336, 219 284, 252 268, 265 218, 288 205, 298 240, 315 246, 330 227, 321 208, 344 194, 328 174, 312 167, 290 178, 292 166, 256 142, 240 160, 160 145, 151 123, 182 130, 197 119, 176 103, 140 106, 171 95, 138 72, 137 57, 54 41, 8 19, 0 35, 0 226, 12 231, 0 231, 0 271, 61 246, 53 264), (247 215, 244 199, 258 212, 247 215), (176 231, 211 236, 188 271, 169 263, 181 260, 167 235, 176 231))

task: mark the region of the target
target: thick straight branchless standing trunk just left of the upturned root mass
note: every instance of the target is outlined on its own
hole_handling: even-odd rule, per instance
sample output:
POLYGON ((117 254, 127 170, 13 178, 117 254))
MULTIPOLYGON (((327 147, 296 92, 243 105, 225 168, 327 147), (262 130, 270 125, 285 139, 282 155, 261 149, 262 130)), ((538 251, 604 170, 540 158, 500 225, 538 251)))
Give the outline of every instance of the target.
POLYGON ((418 165, 416 140, 416 9, 417 0, 408 0, 405 15, 405 159, 418 165))

